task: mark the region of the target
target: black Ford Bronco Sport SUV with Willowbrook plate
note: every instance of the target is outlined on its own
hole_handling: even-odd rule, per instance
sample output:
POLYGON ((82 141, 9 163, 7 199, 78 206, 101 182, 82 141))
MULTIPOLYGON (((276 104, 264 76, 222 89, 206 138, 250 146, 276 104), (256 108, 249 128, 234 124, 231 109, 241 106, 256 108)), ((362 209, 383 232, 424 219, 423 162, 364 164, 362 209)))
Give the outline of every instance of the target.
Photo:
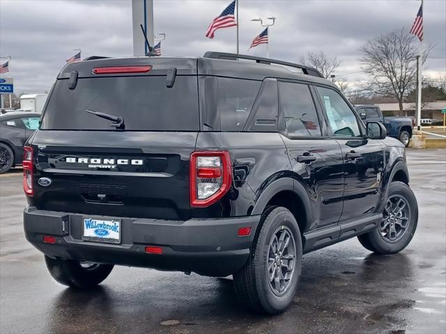
POLYGON ((417 227, 404 147, 318 71, 267 58, 87 58, 66 65, 24 148, 26 238, 63 285, 114 264, 233 275, 277 313, 303 253, 417 227))

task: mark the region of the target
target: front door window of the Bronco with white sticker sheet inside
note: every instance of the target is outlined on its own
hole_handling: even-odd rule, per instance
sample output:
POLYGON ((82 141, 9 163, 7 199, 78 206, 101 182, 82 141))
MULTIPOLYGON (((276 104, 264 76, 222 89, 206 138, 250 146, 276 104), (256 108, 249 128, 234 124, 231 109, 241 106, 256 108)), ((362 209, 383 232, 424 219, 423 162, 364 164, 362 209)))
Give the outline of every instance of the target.
POLYGON ((316 87, 316 89, 321 97, 325 115, 328 118, 328 126, 334 136, 361 136, 355 114, 341 95, 336 90, 329 88, 316 87))

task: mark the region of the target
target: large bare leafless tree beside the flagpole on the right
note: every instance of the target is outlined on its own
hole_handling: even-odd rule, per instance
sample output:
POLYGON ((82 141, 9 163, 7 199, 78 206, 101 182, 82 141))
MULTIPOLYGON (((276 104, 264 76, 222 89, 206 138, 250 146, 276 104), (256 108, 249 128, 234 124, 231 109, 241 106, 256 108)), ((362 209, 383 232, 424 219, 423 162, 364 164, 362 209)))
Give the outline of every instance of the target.
MULTIPOLYGON (((424 51, 422 64, 432 46, 424 51)), ((362 46, 362 69, 371 77, 371 86, 381 95, 397 98, 399 110, 403 110, 403 98, 415 86, 417 76, 415 37, 404 29, 380 35, 362 46)))

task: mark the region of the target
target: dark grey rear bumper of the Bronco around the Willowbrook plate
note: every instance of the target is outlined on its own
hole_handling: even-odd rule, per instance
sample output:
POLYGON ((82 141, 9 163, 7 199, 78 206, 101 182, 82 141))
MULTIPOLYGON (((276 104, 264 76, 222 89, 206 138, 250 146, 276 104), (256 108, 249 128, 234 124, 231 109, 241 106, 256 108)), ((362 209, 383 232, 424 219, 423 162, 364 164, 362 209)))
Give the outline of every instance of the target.
POLYGON ((227 276, 247 261, 260 221, 260 216, 188 221, 121 218, 121 244, 102 244, 82 240, 83 218, 26 207, 26 239, 50 257, 227 276), (247 226, 251 234, 238 237, 238 228, 247 226), (44 244, 44 235, 55 237, 56 244, 44 244), (145 246, 160 246, 162 254, 147 254, 145 246))

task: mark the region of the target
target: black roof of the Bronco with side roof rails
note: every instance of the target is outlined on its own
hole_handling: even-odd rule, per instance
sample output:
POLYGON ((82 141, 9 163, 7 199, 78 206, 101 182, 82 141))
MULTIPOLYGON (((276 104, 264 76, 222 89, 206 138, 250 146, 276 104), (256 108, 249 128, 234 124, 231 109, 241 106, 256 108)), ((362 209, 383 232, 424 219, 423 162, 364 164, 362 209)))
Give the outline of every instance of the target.
MULTIPOLYGON (((164 75, 175 67, 178 75, 215 75, 240 79, 263 80, 267 77, 294 79, 325 84, 337 88, 336 85, 321 77, 314 68, 305 65, 286 63, 269 58, 245 56, 240 54, 226 54, 206 52, 203 57, 128 57, 106 58, 90 57, 84 61, 71 63, 63 67, 58 79, 68 79, 71 72, 78 72, 78 77, 93 77, 95 67, 152 65, 151 74, 164 75), (238 59, 238 60, 237 60, 238 59), (299 71, 300 73, 298 73, 299 71)), ((116 74, 100 74, 113 76, 116 74)), ((147 75, 132 74, 132 75, 147 75)))

